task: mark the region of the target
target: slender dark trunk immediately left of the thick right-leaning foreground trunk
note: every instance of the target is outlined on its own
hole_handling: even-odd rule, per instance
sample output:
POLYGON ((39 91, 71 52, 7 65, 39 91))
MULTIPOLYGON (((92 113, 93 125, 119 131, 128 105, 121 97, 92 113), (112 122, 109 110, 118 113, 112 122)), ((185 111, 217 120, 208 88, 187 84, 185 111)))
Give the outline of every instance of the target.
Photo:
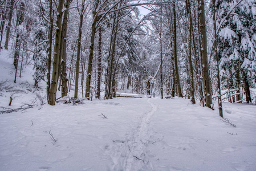
POLYGON ((46 93, 47 93, 47 100, 50 93, 50 86, 51 86, 51 52, 52 52, 52 31, 54 27, 53 15, 52 15, 52 0, 50 0, 50 9, 49 9, 49 18, 50 18, 50 31, 48 34, 49 39, 49 47, 48 47, 48 60, 47 60, 47 86, 46 86, 46 93))

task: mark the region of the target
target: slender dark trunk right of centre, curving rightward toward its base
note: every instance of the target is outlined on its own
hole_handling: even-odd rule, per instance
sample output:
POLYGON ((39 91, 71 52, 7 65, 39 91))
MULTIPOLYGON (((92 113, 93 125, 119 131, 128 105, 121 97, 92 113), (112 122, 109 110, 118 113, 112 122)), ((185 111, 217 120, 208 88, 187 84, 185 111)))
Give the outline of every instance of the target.
POLYGON ((176 81, 177 81, 177 88, 178 88, 178 97, 182 97, 181 92, 181 85, 180 85, 180 75, 178 74, 178 59, 177 59, 177 29, 176 29, 176 10, 175 10, 175 3, 176 1, 173 0, 173 51, 174 51, 174 65, 175 65, 175 74, 176 74, 176 81))

